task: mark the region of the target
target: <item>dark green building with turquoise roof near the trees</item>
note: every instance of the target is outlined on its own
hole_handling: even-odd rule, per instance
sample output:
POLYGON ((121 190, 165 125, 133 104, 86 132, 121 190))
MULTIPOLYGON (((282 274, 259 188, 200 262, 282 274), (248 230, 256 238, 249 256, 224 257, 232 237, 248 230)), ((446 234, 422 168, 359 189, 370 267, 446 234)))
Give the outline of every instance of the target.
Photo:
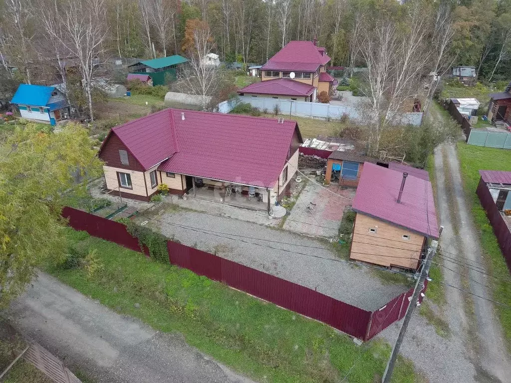
POLYGON ((149 75, 153 80, 153 85, 165 85, 167 82, 166 77, 175 80, 179 75, 182 65, 186 62, 188 62, 188 59, 174 55, 138 61, 130 65, 129 68, 131 74, 149 75))

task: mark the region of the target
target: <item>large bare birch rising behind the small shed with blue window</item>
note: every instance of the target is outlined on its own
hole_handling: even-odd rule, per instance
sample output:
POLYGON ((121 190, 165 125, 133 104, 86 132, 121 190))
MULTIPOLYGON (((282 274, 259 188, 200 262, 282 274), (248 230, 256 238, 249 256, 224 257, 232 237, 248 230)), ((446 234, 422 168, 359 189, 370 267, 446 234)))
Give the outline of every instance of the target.
POLYGON ((378 155, 382 134, 400 118, 405 102, 417 97, 429 54, 427 19, 422 3, 407 3, 408 13, 398 25, 384 13, 363 20, 360 57, 367 66, 369 153, 378 155), (403 26, 406 25, 406 28, 403 26))

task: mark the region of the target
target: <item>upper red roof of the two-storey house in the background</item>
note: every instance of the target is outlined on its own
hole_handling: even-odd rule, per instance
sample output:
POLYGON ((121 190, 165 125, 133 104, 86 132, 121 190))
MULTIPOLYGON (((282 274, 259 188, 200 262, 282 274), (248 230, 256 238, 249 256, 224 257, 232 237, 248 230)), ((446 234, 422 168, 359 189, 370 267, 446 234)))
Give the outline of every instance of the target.
POLYGON ((313 72, 329 61, 330 57, 326 53, 321 56, 319 48, 312 41, 290 41, 261 69, 313 72))

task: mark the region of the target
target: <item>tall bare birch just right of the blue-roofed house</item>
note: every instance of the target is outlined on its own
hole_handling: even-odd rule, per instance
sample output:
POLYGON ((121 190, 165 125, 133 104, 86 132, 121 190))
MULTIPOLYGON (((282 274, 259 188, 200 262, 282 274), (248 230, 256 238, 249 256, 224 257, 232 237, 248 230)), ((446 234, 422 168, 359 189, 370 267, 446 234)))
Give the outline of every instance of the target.
POLYGON ((104 0, 66 0, 57 13, 58 30, 49 30, 53 38, 76 57, 87 98, 90 121, 92 111, 92 87, 97 60, 104 53, 103 43, 107 36, 106 9, 104 0))

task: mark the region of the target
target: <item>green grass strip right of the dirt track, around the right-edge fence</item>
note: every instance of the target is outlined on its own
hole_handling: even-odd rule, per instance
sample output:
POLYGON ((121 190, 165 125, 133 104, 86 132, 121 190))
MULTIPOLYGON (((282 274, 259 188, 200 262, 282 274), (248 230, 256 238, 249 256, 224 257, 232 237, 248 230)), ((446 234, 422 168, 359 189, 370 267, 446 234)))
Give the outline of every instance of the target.
MULTIPOLYGON (((489 268, 488 272, 498 278, 509 278, 509 271, 497 238, 476 195, 476 188, 480 178, 478 171, 481 169, 511 171, 511 151, 458 142, 458 157, 464 189, 480 233, 482 252, 489 268)), ((511 306, 511 282, 492 277, 489 277, 488 280, 493 288, 493 298, 511 306)), ((500 305, 495 305, 495 307, 504 329, 507 345, 511 349, 511 309, 500 305)))

